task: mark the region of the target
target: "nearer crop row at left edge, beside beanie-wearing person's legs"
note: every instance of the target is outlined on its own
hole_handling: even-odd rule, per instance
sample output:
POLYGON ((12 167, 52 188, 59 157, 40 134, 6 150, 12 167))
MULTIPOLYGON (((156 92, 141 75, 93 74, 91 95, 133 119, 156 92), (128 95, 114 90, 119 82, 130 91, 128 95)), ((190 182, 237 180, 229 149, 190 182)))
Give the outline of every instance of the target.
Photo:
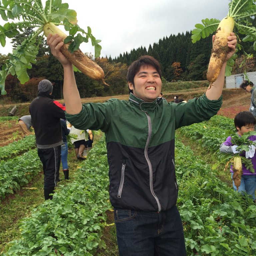
POLYGON ((30 182, 41 171, 41 166, 36 149, 0 161, 0 198, 30 182))

